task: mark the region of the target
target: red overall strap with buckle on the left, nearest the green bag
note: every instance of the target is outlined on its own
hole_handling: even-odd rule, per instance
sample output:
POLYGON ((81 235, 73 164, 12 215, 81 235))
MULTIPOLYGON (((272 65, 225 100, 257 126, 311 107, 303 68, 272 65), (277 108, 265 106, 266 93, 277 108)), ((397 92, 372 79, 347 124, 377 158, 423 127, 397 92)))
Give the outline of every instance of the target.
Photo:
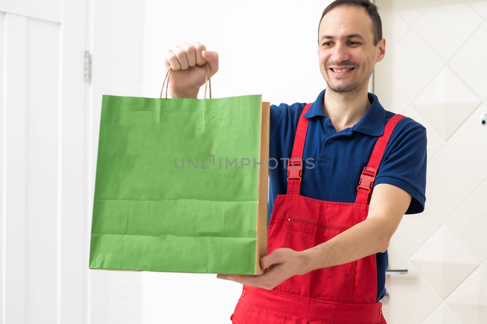
POLYGON ((294 137, 293 153, 287 164, 287 194, 299 195, 301 187, 301 175, 303 169, 303 149, 304 140, 306 139, 306 132, 308 131, 308 118, 303 117, 304 114, 311 107, 311 103, 304 106, 300 119, 298 120, 298 128, 296 129, 296 136, 294 137))

